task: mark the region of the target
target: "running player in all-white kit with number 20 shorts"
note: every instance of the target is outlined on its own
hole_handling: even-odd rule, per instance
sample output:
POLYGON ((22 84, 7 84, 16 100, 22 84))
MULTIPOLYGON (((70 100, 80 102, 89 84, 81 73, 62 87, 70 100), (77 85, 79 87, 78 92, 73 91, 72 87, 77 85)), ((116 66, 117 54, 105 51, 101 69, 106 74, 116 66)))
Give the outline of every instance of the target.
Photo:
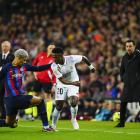
POLYGON ((71 103, 71 122, 75 130, 79 129, 79 125, 76 121, 76 115, 78 111, 78 93, 79 93, 79 77, 75 68, 76 63, 84 61, 90 68, 91 72, 95 72, 95 68, 91 65, 89 60, 85 56, 70 55, 63 56, 63 50, 56 47, 52 50, 52 57, 54 59, 51 68, 56 76, 56 91, 55 101, 56 108, 52 114, 52 127, 56 128, 60 112, 63 107, 63 102, 68 97, 71 103))

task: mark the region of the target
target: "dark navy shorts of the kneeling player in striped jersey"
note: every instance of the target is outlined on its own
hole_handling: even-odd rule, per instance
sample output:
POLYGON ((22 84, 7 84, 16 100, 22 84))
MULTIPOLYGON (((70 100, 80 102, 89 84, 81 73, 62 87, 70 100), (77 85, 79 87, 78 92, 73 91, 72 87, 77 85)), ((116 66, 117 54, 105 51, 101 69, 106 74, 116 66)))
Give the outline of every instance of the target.
POLYGON ((16 116, 18 109, 29 108, 32 98, 32 95, 5 97, 4 103, 6 104, 6 116, 16 116))

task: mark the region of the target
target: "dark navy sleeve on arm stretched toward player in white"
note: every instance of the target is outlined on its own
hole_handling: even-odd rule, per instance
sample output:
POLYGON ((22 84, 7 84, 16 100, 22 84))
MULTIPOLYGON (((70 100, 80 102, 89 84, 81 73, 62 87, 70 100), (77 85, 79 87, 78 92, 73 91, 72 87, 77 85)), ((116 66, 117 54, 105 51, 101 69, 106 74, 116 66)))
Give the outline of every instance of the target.
POLYGON ((27 71, 44 71, 47 70, 51 67, 51 64, 47 64, 47 65, 42 65, 42 66, 32 66, 29 63, 25 64, 26 70, 27 71))

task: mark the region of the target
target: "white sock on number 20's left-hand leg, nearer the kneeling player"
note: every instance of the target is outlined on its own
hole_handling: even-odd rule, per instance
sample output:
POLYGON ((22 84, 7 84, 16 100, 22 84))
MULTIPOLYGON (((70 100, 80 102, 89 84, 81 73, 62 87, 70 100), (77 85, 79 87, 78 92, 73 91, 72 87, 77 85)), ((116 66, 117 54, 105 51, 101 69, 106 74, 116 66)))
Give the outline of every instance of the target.
POLYGON ((52 114, 52 127, 55 129, 56 128, 56 123, 59 119, 59 116, 60 116, 60 112, 61 111, 58 111, 56 108, 54 109, 53 111, 53 114, 52 114))

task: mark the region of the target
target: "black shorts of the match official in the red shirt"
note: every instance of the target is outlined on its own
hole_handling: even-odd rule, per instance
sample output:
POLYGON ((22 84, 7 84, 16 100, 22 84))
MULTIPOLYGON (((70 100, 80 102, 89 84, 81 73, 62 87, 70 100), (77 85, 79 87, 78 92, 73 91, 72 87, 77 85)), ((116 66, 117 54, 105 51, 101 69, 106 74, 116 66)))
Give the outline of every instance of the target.
POLYGON ((42 88, 44 89, 45 93, 51 93, 52 83, 42 83, 35 80, 33 91, 40 92, 42 88))

